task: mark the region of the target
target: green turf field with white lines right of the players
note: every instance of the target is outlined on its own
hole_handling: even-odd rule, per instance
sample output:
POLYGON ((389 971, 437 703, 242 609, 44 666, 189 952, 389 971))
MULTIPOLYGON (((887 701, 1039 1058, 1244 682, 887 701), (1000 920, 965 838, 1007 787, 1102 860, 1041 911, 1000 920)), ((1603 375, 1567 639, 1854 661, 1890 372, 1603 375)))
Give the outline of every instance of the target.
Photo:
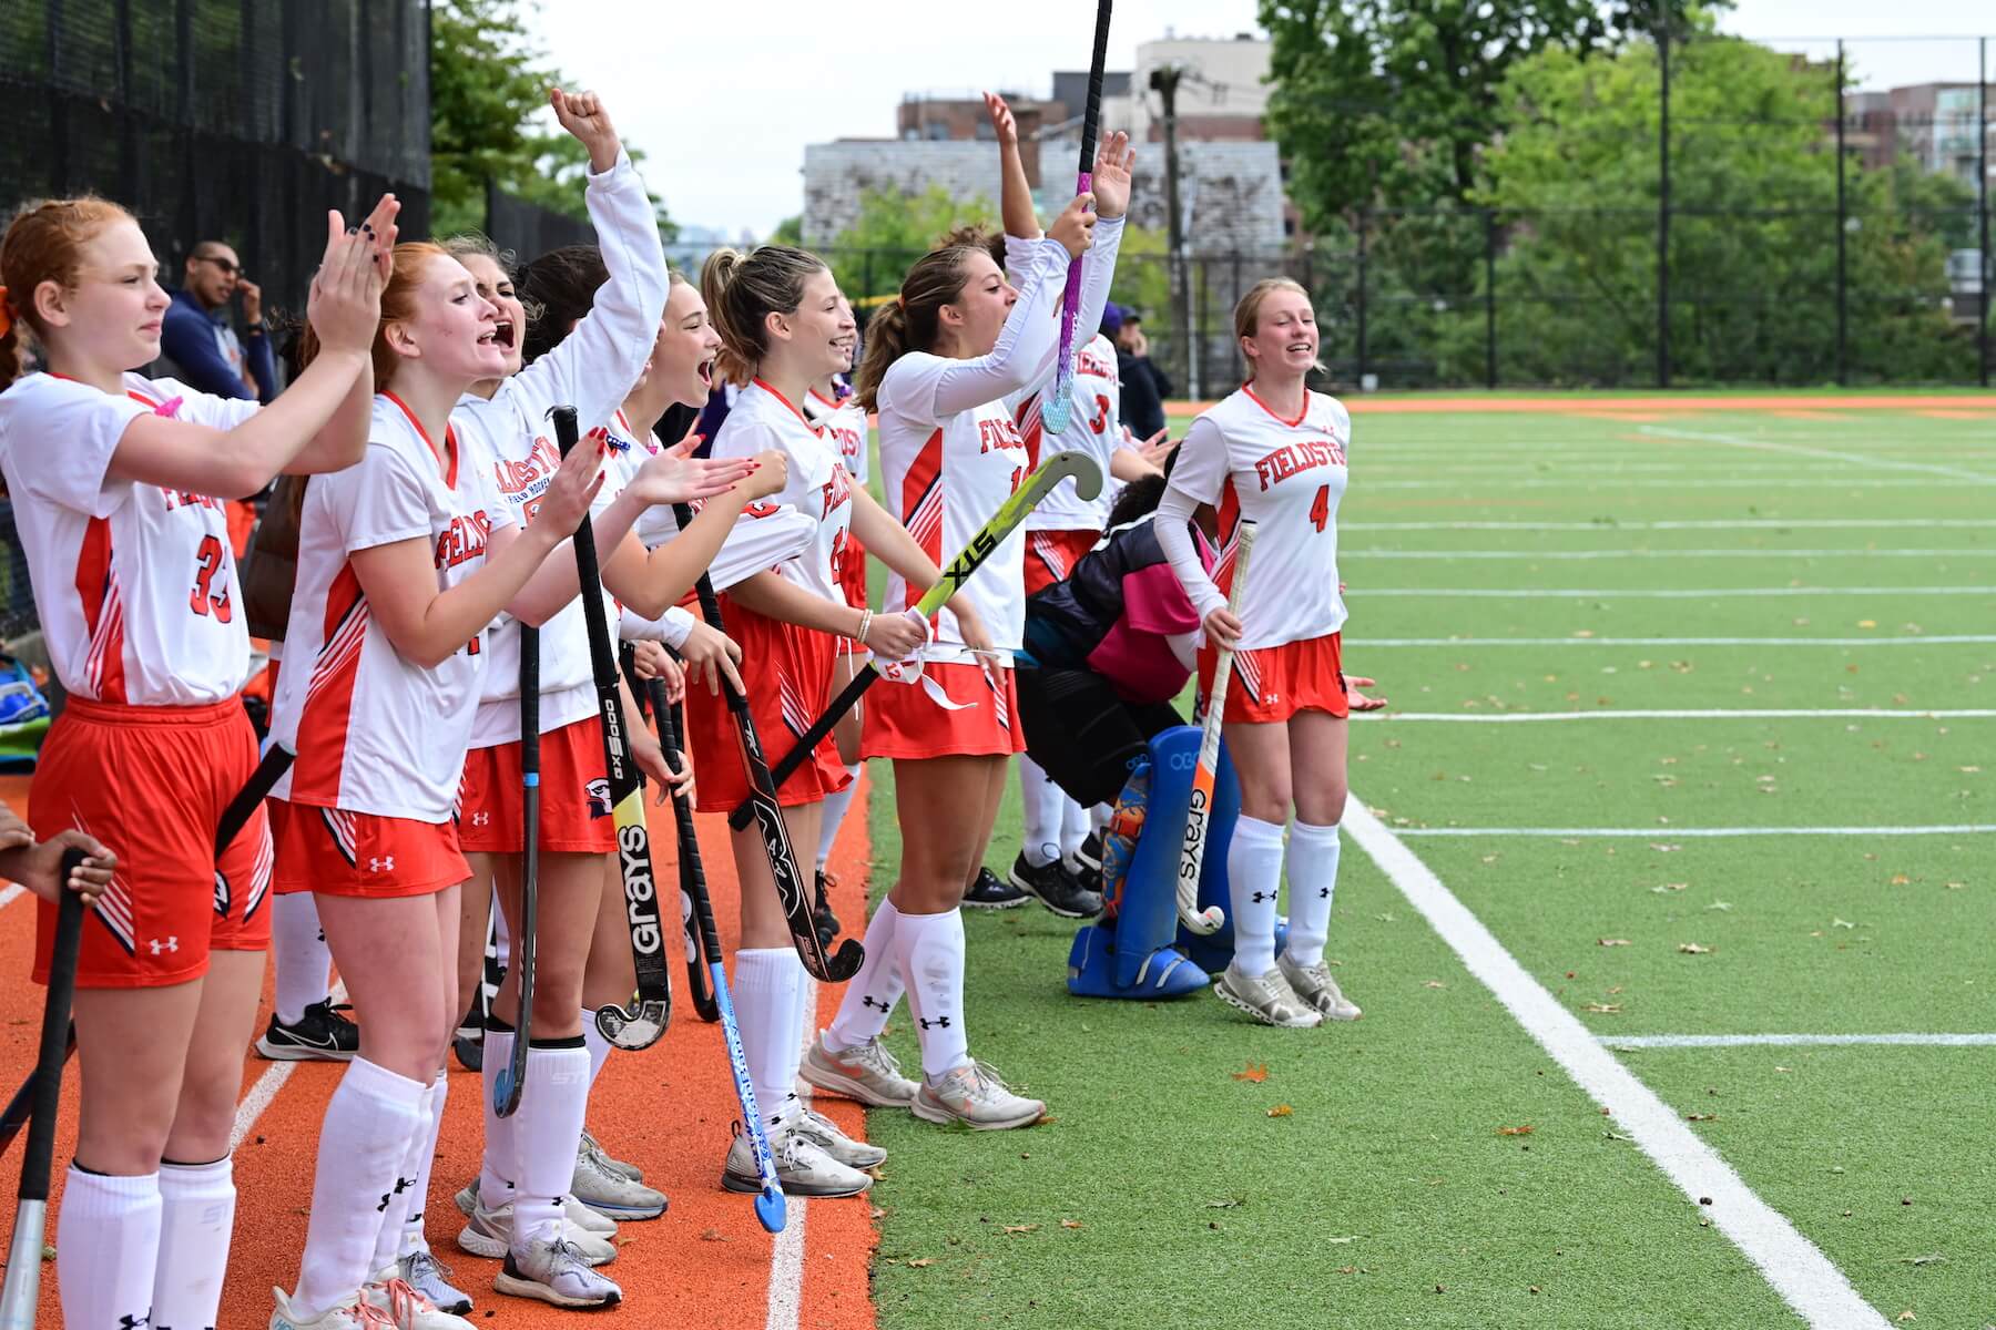
MULTIPOLYGON (((1345 660, 1413 716, 1353 726, 1351 784, 1876 1316, 1836 1324, 1980 1330, 1996 399, 1812 405, 1359 415, 1345 660), (1589 716, 1501 720, 1547 712, 1589 716), (1876 831, 1920 828, 1956 830, 1876 831), (1912 1041, 1615 1045, 1673 1035, 1912 1041)), ((1014 792, 988 861, 1016 843, 1014 792)), ((1355 1025, 1072 999, 1074 925, 966 927, 970 1047, 1054 1119, 868 1115, 882 1326, 1806 1324, 1349 830, 1355 1025)))

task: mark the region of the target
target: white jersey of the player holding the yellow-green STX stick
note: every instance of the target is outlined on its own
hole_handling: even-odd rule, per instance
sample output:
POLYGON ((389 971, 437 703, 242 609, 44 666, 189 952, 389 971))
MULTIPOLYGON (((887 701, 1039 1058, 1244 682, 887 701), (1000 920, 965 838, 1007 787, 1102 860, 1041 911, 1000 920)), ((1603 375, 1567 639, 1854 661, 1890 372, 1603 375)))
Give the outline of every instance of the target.
MULTIPOLYGON (((754 457, 768 449, 788 459, 782 489, 766 495, 760 506, 774 504, 810 518, 806 544, 786 554, 776 572, 814 596, 846 602, 838 584, 838 564, 852 534, 852 477, 838 463, 838 453, 820 429, 804 419, 790 401, 760 379, 743 389, 735 409, 715 435, 713 457, 754 457)), ((743 512, 735 530, 745 540, 760 542, 768 514, 743 512)), ((729 536, 729 544, 735 534, 729 536)))

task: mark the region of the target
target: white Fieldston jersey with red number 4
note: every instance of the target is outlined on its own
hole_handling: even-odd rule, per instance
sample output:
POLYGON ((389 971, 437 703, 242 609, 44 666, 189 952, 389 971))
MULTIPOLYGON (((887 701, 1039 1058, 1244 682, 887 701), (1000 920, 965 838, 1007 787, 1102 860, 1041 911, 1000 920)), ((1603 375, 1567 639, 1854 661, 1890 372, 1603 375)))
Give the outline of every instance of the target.
POLYGON ((1232 590, 1234 532, 1255 522, 1242 650, 1303 642, 1345 624, 1337 594, 1337 500, 1345 495, 1351 417, 1335 397, 1307 393, 1281 419, 1242 387, 1192 423, 1178 445, 1172 489, 1220 510, 1220 590, 1232 590))

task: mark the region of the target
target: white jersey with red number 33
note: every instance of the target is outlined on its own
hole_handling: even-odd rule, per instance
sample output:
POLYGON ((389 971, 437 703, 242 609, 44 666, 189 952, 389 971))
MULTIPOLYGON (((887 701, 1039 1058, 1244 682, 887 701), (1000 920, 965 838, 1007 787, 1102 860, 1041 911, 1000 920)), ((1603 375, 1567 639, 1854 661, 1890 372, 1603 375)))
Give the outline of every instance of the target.
POLYGON ((253 401, 126 375, 122 393, 28 375, 0 393, 0 469, 56 678, 78 698, 204 706, 242 692, 250 632, 222 499, 110 479, 136 417, 236 429, 253 401))

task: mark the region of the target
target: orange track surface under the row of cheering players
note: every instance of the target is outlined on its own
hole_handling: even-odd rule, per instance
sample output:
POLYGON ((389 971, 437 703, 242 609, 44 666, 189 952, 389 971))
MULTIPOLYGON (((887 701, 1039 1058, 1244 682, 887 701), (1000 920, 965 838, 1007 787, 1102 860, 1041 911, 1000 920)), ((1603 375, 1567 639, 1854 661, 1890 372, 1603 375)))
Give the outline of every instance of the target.
MULTIPOLYGON (((860 778, 864 780, 864 776, 860 778)), ((26 814, 28 782, 0 778, 0 798, 26 814)), ((671 810, 653 810, 653 859, 661 883, 677 883, 677 835, 671 810)), ((737 935, 735 865, 727 851, 721 818, 701 818, 701 847, 707 887, 715 901, 723 945, 737 935)), ((798 847, 810 853, 806 847, 798 847)), ((852 810, 832 851, 832 871, 840 885, 834 909, 848 927, 866 917, 866 792, 852 810)), ((673 901, 667 889, 665 899, 673 901)), ((669 909, 671 917, 675 911, 669 909)), ((659 1220, 625 1224, 623 1248, 605 1268, 625 1290, 625 1304, 591 1314, 589 1324, 703 1326, 715 1330, 762 1330, 768 1324, 770 1252, 774 1240, 754 1220, 750 1196, 721 1190, 721 1161, 729 1147, 729 1125, 741 1117, 729 1075, 721 1027, 705 1025, 685 1001, 685 965, 673 959, 673 1025, 645 1053, 615 1053, 603 1069, 589 1103, 589 1125, 605 1147, 645 1170, 645 1180, 671 1196, 671 1210, 659 1220)), ((40 1037, 42 989, 28 981, 34 945, 34 901, 22 893, 0 909, 0 1101, 10 1097, 34 1067, 40 1037)), ((830 1021, 836 989, 820 989, 818 1021, 830 1021)), ((269 977, 257 1031, 269 1019, 269 977)), ((244 1093, 271 1069, 253 1053, 244 1061, 244 1093)), ((269 1288, 297 1282, 297 1256, 305 1240, 311 1172, 317 1159, 319 1119, 341 1067, 295 1063, 295 1071, 250 1129, 236 1153, 236 1244, 230 1258, 228 1292, 218 1330, 261 1330, 269 1324, 269 1288)), ((50 1204, 48 1242, 56 1234, 62 1170, 76 1145, 74 1061, 64 1079, 62 1123, 56 1137, 56 1196, 50 1204)), ((573 1312, 557 1312, 541 1302, 501 1298, 491 1292, 495 1260, 479 1260, 457 1250, 461 1222, 451 1196, 475 1172, 483 1127, 479 1077, 451 1063, 451 1099, 437 1166, 427 1198, 429 1242, 437 1256, 457 1270, 457 1284, 475 1300, 471 1320, 491 1326, 575 1326, 573 1312)), ((858 1105, 826 1097, 816 1105, 852 1137, 864 1137, 858 1105)), ((0 1234, 14 1226, 14 1192, 20 1180, 20 1147, 0 1161, 0 1234)), ((790 1226, 800 1206, 790 1202, 790 1226)), ((872 1330, 868 1264, 876 1232, 866 1198, 812 1200, 802 1206, 804 1260, 796 1324, 804 1330, 872 1330)), ((4 1256, 4 1248, 0 1248, 4 1256)), ((56 1266, 42 1266, 42 1314, 38 1326, 60 1326, 56 1308, 56 1266)))

